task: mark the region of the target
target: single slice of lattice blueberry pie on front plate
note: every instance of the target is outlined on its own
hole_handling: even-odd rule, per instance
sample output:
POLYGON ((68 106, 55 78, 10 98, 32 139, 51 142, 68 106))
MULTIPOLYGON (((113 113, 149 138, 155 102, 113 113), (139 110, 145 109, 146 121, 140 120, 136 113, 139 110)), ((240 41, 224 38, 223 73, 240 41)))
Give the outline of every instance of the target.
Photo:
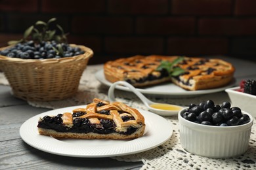
POLYGON ((85 108, 39 118, 40 135, 74 139, 134 139, 144 133, 144 116, 120 102, 94 99, 85 108))

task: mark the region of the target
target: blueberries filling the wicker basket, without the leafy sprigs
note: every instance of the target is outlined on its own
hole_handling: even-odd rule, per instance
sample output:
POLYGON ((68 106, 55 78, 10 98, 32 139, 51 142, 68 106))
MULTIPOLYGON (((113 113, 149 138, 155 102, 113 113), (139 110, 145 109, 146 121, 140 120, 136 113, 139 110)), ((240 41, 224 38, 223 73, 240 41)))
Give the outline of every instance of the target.
POLYGON ((79 47, 70 46, 67 43, 58 45, 56 41, 35 43, 28 41, 15 44, 10 48, 0 51, 2 56, 21 59, 48 59, 48 58, 68 58, 84 54, 79 47), (59 52, 61 46, 62 52, 59 52))

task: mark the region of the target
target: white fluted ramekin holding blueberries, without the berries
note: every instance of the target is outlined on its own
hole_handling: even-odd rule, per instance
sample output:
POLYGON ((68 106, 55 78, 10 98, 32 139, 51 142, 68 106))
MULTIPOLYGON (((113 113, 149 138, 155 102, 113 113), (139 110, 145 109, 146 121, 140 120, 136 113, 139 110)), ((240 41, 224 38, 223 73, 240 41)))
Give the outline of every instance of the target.
POLYGON ((253 117, 240 126, 207 126, 182 118, 179 112, 179 132, 182 147, 192 154, 208 158, 231 158, 244 154, 249 145, 253 117))

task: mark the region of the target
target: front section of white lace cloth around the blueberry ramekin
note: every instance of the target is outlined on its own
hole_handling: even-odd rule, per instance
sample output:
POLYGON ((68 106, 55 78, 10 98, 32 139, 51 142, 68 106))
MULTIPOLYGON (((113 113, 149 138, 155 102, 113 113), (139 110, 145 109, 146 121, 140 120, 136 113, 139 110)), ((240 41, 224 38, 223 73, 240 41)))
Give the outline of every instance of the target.
MULTIPOLYGON (((213 159, 186 152, 179 141, 177 117, 166 117, 166 119, 173 124, 171 139, 152 150, 128 156, 118 156, 114 159, 119 161, 141 160, 144 163, 141 169, 256 169, 255 128, 251 131, 249 148, 245 154, 236 158, 213 159)), ((255 122, 253 126, 256 126, 255 122)))

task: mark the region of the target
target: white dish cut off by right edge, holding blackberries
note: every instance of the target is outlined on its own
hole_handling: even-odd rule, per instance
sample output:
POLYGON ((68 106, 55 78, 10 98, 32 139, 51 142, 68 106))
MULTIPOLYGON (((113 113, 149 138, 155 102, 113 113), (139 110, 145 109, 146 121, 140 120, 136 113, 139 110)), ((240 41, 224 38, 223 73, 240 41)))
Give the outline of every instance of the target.
POLYGON ((251 116, 256 117, 256 95, 238 92, 239 89, 239 86, 228 88, 225 92, 228 93, 232 105, 240 107, 241 110, 249 112, 251 116))

